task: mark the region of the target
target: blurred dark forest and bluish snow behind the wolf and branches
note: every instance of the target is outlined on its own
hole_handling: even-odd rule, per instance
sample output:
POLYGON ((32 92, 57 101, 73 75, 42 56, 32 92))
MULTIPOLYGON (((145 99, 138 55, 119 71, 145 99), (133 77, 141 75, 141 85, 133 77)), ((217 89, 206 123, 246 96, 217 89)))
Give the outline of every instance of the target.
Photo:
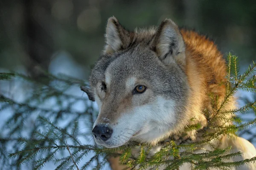
MULTIPOLYGON (((256 61, 255 0, 0 0, 0 72, 12 70, 42 82, 45 78, 42 70, 46 70, 52 75, 62 73, 86 81, 105 44, 108 17, 113 15, 129 30, 159 25, 165 18, 171 18, 179 26, 210 37, 224 54, 232 52, 239 56, 241 70, 252 60, 256 61)), ((49 80, 44 84, 55 87, 49 80)), ((37 89, 31 84, 20 83, 20 80, 0 81, 0 94, 18 102, 31 96, 28 89, 34 89, 38 94, 45 92, 44 88, 37 89)), ((79 86, 69 90, 68 94, 77 96, 67 102, 65 113, 70 113, 70 118, 75 112, 77 115, 88 112, 88 105, 94 107, 83 101, 87 96, 82 96, 79 86)), ((249 101, 254 98, 247 93, 238 95, 249 101)), ((65 98, 38 101, 43 103, 42 107, 54 110, 56 103, 66 102, 65 98)), ((8 119, 13 115, 12 111, 0 109, 0 137, 10 133, 1 126, 6 120, 10 121, 7 127, 14 129, 11 132, 17 132, 16 136, 24 135, 21 130, 17 131, 20 125, 17 128, 10 126, 17 123, 8 119)), ((20 119, 24 121, 21 124, 26 124, 30 130, 36 115, 38 113, 20 119)), ((249 115, 248 119, 252 118, 249 115)), ((62 121, 68 119, 65 117, 62 121)), ((66 125, 72 124, 74 121, 66 125)), ((254 127, 240 134, 255 145, 255 135, 252 135, 255 130, 254 127)))

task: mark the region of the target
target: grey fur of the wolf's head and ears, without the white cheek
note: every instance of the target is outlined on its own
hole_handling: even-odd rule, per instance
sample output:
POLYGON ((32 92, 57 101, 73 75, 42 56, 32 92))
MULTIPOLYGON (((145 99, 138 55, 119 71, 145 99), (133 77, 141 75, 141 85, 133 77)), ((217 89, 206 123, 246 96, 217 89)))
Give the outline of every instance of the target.
POLYGON ((184 50, 183 39, 177 26, 171 20, 165 20, 158 29, 151 29, 148 32, 143 30, 128 32, 115 18, 111 17, 106 34, 106 50, 90 75, 91 91, 98 96, 103 92, 99 92, 97 86, 105 83, 106 72, 111 73, 111 84, 103 93, 104 97, 98 96, 104 108, 101 109, 102 114, 99 115, 97 123, 107 123, 102 121, 105 118, 113 119, 112 124, 118 123, 115 117, 122 114, 119 110, 120 106, 124 107, 124 98, 132 98, 132 104, 127 104, 123 109, 128 112, 131 107, 154 102, 157 96, 161 96, 165 100, 175 102, 175 121, 169 122, 166 126, 173 131, 180 129, 181 120, 184 123, 187 119, 185 106, 190 89, 182 69, 183 66, 176 62, 178 51, 184 50), (111 28, 108 28, 109 26, 111 28), (117 43, 122 42, 120 48, 117 48, 118 45, 114 42, 114 38, 117 43), (163 49, 166 43, 167 50, 163 49), (131 77, 146 84, 150 89, 147 92, 148 95, 132 95, 133 89, 126 89, 125 82, 131 77))

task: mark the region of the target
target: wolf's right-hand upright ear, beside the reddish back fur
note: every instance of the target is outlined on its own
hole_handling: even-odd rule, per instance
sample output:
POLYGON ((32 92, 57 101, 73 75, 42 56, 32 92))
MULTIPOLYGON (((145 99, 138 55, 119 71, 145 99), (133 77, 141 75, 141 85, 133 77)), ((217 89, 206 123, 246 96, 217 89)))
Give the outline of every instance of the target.
POLYGON ((185 44, 178 26, 170 19, 164 20, 157 29, 150 49, 155 51, 164 63, 185 62, 185 44))

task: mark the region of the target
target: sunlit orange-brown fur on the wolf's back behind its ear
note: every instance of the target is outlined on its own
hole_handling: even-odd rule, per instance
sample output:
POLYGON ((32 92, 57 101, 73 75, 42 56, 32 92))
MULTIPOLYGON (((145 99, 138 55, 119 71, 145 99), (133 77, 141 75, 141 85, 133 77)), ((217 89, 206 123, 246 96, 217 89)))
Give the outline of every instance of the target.
POLYGON ((209 93, 217 95, 219 101, 225 96, 227 82, 225 60, 215 43, 204 35, 185 29, 181 29, 181 34, 186 44, 186 73, 190 82, 197 80, 196 76, 201 79, 200 88, 208 101, 204 102, 203 107, 210 109, 209 97, 207 97, 209 93), (189 74, 189 72, 195 74, 189 74))

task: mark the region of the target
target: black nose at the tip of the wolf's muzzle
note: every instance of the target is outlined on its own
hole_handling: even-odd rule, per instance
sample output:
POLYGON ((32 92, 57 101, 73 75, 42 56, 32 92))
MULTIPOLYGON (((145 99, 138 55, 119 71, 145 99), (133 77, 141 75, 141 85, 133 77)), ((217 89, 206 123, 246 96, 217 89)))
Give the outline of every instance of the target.
POLYGON ((113 133, 113 130, 103 124, 98 124, 93 128, 95 138, 101 138, 102 141, 107 141, 113 133))

